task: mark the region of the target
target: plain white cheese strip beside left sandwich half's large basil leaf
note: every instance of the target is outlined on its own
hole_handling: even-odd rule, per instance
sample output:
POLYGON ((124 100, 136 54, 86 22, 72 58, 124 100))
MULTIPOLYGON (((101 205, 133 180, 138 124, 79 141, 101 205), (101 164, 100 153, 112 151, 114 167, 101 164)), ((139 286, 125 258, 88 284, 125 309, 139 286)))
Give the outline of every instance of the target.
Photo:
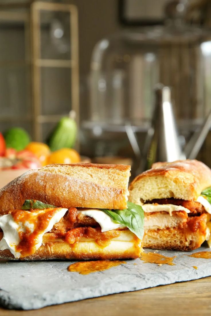
POLYGON ((108 230, 125 228, 125 226, 115 222, 108 214, 97 209, 78 209, 84 216, 94 218, 94 220, 100 225, 101 231, 107 232, 108 230))

